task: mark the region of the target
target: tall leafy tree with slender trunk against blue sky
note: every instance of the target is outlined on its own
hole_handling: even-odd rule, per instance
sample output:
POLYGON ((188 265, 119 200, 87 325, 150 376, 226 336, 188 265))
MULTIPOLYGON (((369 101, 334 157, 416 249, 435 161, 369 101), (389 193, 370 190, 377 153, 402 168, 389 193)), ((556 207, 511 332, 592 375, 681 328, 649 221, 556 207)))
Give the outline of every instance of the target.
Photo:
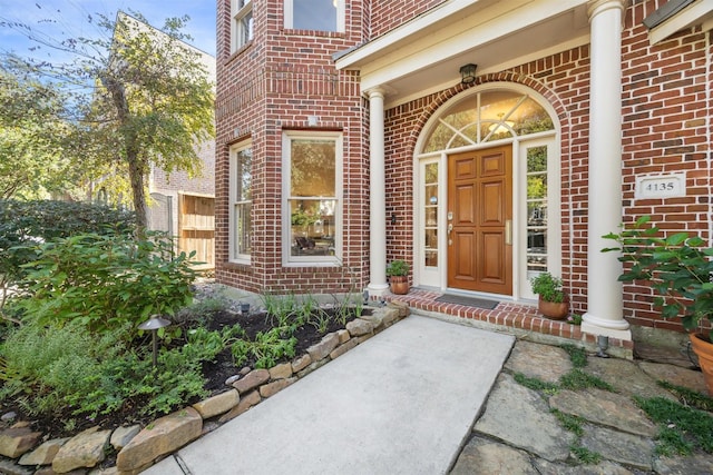
POLYGON ((6 55, 18 75, 50 80, 69 95, 75 127, 62 152, 85 182, 100 184, 115 200, 130 190, 144 229, 150 167, 201 172, 195 146, 214 135, 214 91, 202 53, 183 41, 189 38, 180 33, 188 17, 168 19, 158 30, 140 13, 133 16, 88 17, 108 33, 100 38, 57 39, 20 22, 0 26, 70 57, 48 62, 6 55))

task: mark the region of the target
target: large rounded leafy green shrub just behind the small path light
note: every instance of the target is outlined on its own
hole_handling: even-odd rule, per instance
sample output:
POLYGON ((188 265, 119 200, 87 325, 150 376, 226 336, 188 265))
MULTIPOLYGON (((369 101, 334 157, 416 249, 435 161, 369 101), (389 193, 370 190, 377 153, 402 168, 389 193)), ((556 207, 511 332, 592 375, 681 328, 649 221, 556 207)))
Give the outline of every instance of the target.
MULTIPOLYGON (((26 320, 64 325, 77 320, 91 331, 126 324, 136 327, 153 314, 173 315, 192 301, 196 271, 185 254, 159 234, 78 235, 46 243, 27 265, 30 297, 18 301, 26 320)), ((193 254, 192 254, 193 257, 193 254)))

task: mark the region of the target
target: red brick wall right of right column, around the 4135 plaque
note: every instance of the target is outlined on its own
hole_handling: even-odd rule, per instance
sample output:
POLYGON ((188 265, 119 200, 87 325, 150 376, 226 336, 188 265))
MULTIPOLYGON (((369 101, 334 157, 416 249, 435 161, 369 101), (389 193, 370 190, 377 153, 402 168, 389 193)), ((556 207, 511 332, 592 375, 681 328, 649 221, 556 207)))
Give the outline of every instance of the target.
MULTIPOLYGON (((683 30, 649 44, 642 20, 660 2, 631 7, 623 33, 624 214, 627 224, 649 215, 666 232, 711 238, 711 32, 683 30), (634 199, 637 175, 686 172, 682 198, 634 199)), ((627 285, 624 305, 635 325, 681 326, 662 321, 652 308, 651 287, 627 285)))

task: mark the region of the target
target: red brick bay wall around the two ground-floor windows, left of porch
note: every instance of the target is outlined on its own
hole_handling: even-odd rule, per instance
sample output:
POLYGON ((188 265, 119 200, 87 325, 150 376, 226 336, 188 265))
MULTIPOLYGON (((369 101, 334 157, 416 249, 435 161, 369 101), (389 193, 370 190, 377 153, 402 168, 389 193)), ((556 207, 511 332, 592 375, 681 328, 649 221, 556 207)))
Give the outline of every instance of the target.
POLYGON ((363 41, 365 14, 350 2, 344 33, 284 28, 283 0, 255 0, 254 39, 231 55, 229 1, 218 3, 216 278, 252 291, 361 291, 368 283, 369 181, 365 103, 359 76, 336 71, 332 55, 363 41), (318 116, 316 127, 309 117, 318 116), (237 133, 236 133, 236 129, 237 133), (343 255, 340 267, 282 266, 282 133, 343 133, 343 255), (228 259, 228 149, 253 147, 253 255, 251 266, 228 259))

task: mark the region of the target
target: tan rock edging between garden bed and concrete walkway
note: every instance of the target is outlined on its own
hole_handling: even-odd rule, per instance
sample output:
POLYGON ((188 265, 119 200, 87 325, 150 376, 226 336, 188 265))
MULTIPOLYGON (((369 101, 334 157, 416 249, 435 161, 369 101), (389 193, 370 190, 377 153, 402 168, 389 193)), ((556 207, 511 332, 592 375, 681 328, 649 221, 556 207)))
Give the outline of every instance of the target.
POLYGON ((104 431, 94 427, 74 437, 42 441, 40 433, 31 432, 27 423, 19 422, 0 431, 0 473, 59 474, 92 468, 90 475, 138 474, 408 315, 409 307, 398 301, 377 308, 372 315, 348 323, 345 329, 326 334, 292 362, 245 372, 240 378, 226 382, 231 389, 163 416, 146 427, 134 425, 104 431), (105 459, 109 445, 118 451, 116 466, 94 468, 105 459))

